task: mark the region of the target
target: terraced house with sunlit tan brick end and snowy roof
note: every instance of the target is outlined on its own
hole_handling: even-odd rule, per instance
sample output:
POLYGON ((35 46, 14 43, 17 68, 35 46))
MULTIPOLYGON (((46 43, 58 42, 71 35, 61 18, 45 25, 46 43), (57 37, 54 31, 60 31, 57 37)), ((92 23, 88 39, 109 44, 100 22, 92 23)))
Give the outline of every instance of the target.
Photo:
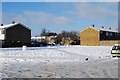
POLYGON ((86 46, 112 46, 120 42, 120 33, 112 28, 87 27, 80 32, 80 44, 86 46))

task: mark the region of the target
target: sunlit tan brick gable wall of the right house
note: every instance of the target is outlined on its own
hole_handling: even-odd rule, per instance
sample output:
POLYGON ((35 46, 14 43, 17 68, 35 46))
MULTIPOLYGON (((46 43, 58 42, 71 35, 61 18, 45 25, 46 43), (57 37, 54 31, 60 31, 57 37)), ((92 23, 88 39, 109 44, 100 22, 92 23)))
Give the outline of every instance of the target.
POLYGON ((85 46, 99 46, 100 45, 99 31, 87 28, 80 33, 80 45, 85 46))

